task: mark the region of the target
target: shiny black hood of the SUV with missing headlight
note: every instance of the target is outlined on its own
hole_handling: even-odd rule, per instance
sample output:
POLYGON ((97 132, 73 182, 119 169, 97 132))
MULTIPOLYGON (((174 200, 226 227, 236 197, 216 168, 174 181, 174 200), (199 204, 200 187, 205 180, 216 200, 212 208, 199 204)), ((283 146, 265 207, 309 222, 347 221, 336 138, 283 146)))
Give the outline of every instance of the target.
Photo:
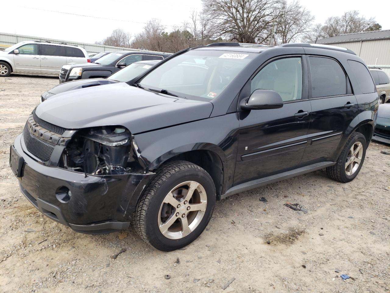
POLYGON ((211 102, 154 93, 124 82, 59 93, 37 116, 66 129, 121 125, 132 134, 208 118, 211 102))

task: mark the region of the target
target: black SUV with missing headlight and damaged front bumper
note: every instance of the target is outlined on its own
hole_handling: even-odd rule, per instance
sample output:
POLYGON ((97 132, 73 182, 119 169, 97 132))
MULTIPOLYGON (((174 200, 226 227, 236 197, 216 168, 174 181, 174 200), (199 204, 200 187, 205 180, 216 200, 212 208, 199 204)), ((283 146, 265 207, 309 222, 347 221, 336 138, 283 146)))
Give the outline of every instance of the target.
POLYGON ((326 168, 358 175, 378 93, 352 51, 214 44, 39 104, 11 146, 27 199, 77 232, 194 241, 216 200, 326 168))

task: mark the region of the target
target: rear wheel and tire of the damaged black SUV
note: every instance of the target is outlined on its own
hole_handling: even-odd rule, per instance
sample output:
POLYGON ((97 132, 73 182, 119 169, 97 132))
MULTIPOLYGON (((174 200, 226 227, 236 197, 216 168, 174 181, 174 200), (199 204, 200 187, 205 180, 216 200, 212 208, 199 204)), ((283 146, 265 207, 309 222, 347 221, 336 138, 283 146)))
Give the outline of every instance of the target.
POLYGON ((360 132, 354 132, 345 144, 335 165, 326 168, 330 178, 339 182, 350 182, 363 166, 367 142, 360 132))

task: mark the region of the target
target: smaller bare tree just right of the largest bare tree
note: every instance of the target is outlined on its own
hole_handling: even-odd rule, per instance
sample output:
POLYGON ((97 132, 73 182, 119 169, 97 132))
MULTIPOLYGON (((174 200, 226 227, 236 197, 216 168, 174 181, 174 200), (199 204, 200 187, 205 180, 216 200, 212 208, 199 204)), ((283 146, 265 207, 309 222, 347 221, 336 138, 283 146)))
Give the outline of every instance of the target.
POLYGON ((280 10, 275 36, 277 44, 300 41, 312 32, 314 16, 299 1, 284 2, 280 10))

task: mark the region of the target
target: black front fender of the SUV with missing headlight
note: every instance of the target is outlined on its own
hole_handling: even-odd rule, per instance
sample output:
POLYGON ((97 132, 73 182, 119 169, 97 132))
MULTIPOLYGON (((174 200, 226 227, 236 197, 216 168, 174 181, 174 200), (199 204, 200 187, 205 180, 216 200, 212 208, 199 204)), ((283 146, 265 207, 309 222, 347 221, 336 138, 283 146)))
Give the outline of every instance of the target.
POLYGON ((223 189, 233 182, 237 157, 238 115, 184 123, 134 135, 138 156, 147 170, 155 170, 168 159, 194 151, 215 153, 223 168, 223 189))

